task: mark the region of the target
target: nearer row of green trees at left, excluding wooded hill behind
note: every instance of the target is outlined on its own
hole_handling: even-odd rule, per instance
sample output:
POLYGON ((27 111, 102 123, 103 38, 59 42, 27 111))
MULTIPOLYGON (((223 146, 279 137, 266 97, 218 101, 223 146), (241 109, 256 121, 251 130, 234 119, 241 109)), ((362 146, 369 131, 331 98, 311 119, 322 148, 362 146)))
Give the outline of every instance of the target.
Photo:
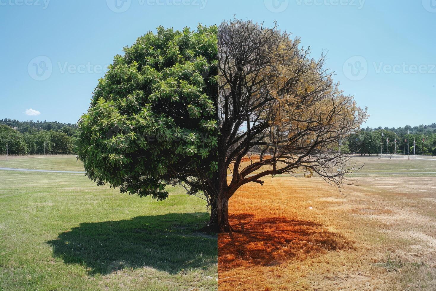
POLYGON ((72 154, 78 130, 64 126, 60 130, 31 129, 24 134, 7 125, 0 125, 0 154, 72 154))

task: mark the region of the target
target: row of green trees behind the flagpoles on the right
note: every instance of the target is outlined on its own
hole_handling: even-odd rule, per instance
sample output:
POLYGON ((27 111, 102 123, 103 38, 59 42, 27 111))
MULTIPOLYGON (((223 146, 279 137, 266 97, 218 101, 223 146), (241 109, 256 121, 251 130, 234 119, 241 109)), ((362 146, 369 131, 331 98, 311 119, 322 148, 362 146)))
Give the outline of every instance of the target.
POLYGON ((383 154, 416 154, 436 155, 436 134, 397 134, 392 130, 365 130, 351 134, 348 137, 347 150, 361 155, 383 154), (381 144, 383 134, 383 145, 381 144), (424 139, 424 142, 422 142, 424 139), (414 141, 416 144, 414 145, 414 141), (409 143, 408 143, 409 142, 409 143))

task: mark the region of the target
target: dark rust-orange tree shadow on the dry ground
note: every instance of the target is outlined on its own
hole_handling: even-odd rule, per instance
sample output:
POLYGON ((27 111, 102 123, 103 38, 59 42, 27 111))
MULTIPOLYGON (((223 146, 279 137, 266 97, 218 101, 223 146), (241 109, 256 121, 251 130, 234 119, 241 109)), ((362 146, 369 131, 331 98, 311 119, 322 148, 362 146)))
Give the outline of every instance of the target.
POLYGON ((353 242, 340 233, 311 221, 256 219, 250 213, 232 215, 229 221, 235 232, 218 236, 220 272, 249 265, 272 266, 290 259, 303 261, 319 253, 353 248, 353 242))

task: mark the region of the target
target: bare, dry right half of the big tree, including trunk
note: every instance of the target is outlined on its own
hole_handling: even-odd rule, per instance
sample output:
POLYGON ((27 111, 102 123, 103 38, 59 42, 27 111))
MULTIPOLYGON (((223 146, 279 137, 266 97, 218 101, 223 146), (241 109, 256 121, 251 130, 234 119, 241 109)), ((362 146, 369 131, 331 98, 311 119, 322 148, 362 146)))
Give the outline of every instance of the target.
POLYGON ((218 58, 217 188, 206 229, 232 231, 228 200, 266 175, 304 168, 339 187, 346 182, 354 166, 338 144, 368 115, 338 88, 324 54, 310 58, 310 48, 276 23, 235 19, 218 28, 218 58), (253 151, 258 159, 243 163, 253 151))

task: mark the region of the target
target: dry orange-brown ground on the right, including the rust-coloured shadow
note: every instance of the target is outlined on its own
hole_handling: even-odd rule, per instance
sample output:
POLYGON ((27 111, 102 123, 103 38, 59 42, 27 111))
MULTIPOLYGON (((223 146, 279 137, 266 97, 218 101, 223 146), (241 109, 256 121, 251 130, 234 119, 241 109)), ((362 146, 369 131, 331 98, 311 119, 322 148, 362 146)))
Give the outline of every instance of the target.
POLYGON ((436 290, 436 178, 248 184, 218 238, 220 290, 436 290))

